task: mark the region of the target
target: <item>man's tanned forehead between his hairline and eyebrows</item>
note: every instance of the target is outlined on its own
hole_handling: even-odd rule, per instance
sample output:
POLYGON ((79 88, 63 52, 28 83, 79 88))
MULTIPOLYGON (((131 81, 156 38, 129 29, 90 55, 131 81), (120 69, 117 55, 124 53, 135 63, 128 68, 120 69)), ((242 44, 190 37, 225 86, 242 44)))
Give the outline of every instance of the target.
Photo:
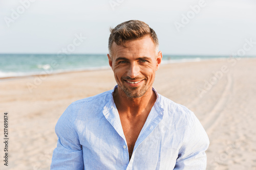
POLYGON ((112 45, 113 57, 150 57, 155 56, 155 44, 150 36, 141 39, 129 40, 122 45, 115 42, 112 45))

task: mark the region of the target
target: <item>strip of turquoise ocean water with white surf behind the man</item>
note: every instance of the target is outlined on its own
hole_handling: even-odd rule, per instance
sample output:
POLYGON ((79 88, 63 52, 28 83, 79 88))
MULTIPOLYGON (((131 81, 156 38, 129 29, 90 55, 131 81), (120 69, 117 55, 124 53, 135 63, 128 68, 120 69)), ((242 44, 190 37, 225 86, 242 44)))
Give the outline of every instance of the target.
MULTIPOLYGON (((164 55, 162 63, 196 62, 227 57, 229 56, 164 55)), ((108 57, 101 54, 0 54, 0 78, 106 68, 110 68, 108 57)))

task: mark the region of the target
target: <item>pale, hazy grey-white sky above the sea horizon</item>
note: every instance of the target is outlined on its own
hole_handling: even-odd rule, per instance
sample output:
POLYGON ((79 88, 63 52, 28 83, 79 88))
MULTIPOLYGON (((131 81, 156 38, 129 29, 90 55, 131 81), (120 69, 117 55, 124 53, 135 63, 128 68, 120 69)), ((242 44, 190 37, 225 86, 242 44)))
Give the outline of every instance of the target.
POLYGON ((247 39, 246 55, 256 56, 255 0, 0 0, 0 18, 0 53, 57 54, 82 35, 72 54, 107 54, 109 28, 138 19, 156 31, 163 54, 231 55, 247 39))

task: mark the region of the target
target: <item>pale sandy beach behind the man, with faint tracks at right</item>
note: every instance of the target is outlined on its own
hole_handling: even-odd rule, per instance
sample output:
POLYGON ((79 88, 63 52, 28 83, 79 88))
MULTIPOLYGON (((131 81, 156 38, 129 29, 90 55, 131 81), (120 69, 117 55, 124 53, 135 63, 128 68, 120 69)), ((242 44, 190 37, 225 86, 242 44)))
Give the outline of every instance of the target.
MULTIPOLYGON (((50 169, 54 127, 63 111, 115 85, 111 69, 1 79, 0 169, 50 169)), ((256 169, 256 58, 163 64, 154 88, 199 118, 210 139, 207 169, 256 169)))

